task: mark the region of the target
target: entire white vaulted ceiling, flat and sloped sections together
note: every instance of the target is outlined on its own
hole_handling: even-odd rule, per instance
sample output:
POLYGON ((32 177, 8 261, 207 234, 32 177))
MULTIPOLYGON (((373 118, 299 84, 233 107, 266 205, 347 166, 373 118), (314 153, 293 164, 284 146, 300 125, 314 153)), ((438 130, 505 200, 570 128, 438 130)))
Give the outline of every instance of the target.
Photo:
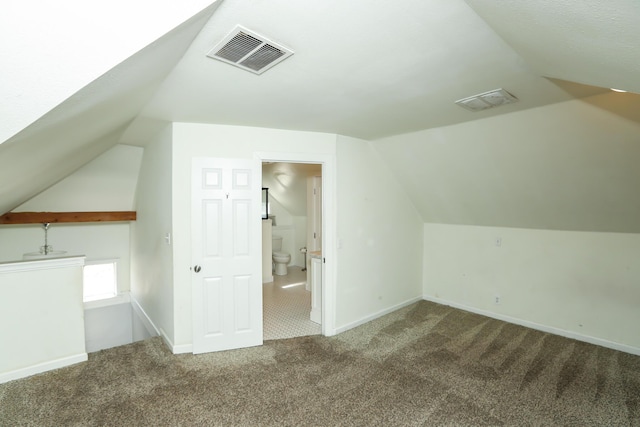
MULTIPOLYGON (((69 0, 68 8, 43 5, 44 15, 58 22, 65 16, 76 16, 77 11, 87 11, 88 6, 81 3, 69 0)), ((0 84, 12 83, 4 83, 0 93, 8 95, 0 96, 0 111, 3 117, 11 118, 8 125, 0 126, 2 135, 9 138, 0 145, 0 211, 18 206, 117 142, 144 145, 157 124, 184 121, 319 131, 372 140, 375 147, 388 150, 385 160, 402 177, 405 187, 412 189, 408 192, 414 204, 429 221, 640 230, 636 199, 628 198, 630 186, 637 186, 638 181, 631 170, 635 160, 640 160, 634 145, 638 141, 638 95, 612 97, 608 89, 640 92, 640 6, 635 0, 234 0, 214 3, 208 9, 202 3, 210 2, 180 2, 184 7, 172 2, 177 21, 184 21, 185 15, 194 18, 173 32, 167 31, 175 25, 165 25, 166 34, 160 37, 156 33, 157 42, 140 51, 148 40, 138 40, 135 33, 151 28, 148 17, 155 16, 157 8, 169 7, 151 3, 145 2, 146 11, 153 10, 153 14, 134 13, 132 21, 139 25, 118 27, 118 44, 129 45, 131 40, 131 53, 139 54, 125 56, 129 59, 123 61, 125 57, 96 58, 100 55, 95 52, 87 56, 87 50, 77 50, 69 57, 76 64, 83 60, 98 64, 77 73, 51 55, 55 45, 47 45, 46 55, 34 58, 30 51, 12 49, 17 42, 6 40, 21 40, 30 32, 47 39, 68 31, 69 38, 78 38, 78 28, 44 25, 44 18, 37 21, 39 26, 31 25, 31 16, 2 14, 0 24, 11 23, 7 27, 11 37, 3 34, 1 39, 9 48, 0 46, 3 53, 9 53, 4 58, 12 65, 9 71, 0 70, 0 84), (203 12, 196 15, 200 10, 203 12), (286 45, 294 55, 260 76, 207 58, 206 53, 238 24, 286 45), (137 48, 133 40, 137 40, 137 48), (113 67, 111 71, 101 75, 109 67, 113 67), (25 80, 20 75, 31 78, 25 80), (39 76, 43 84, 34 83, 39 76), (66 78, 69 81, 60 90, 51 85, 66 78), (478 113, 453 103, 499 87, 519 101, 478 113), (568 121, 557 122, 556 116, 568 121), (513 117, 525 119, 519 122, 513 117), (538 126, 525 126, 534 117, 538 126), (616 162, 625 160, 614 173, 618 178, 597 187, 595 197, 600 199, 594 204, 600 208, 591 220, 574 216, 577 219, 572 222, 571 209, 562 215, 552 210, 543 214, 541 207, 544 200, 565 200, 575 201, 576 208, 592 208, 585 200, 595 178, 570 180, 571 190, 553 180, 538 180, 549 161, 547 156, 553 161, 570 159, 570 153, 580 152, 580 146, 574 147, 578 151, 563 152, 558 159, 551 153, 540 154, 531 157, 528 167, 501 169, 498 181, 487 178, 495 171, 478 169, 478 176, 486 175, 477 182, 485 182, 487 191, 494 186, 504 203, 520 201, 517 208, 511 206, 489 218, 496 209, 495 200, 465 190, 462 184, 468 182, 467 175, 456 175, 455 171, 456 165, 466 162, 460 160, 462 156, 485 153, 477 151, 478 139, 491 141, 489 128, 499 134, 503 118, 508 126, 520 123, 520 128, 512 129, 513 138, 518 139, 518 130, 528 133, 526 141, 520 141, 521 154, 535 151, 538 140, 557 141, 556 131, 578 138, 568 130, 582 126, 584 120, 602 126, 581 134, 589 140, 582 147, 588 158, 569 162, 570 169, 564 175, 559 166, 562 163, 556 163, 556 173, 551 175, 557 179, 567 174, 593 178, 597 174, 589 168, 597 169, 596 159, 610 159, 606 173, 613 173, 616 162), (544 118, 557 126, 546 126, 544 118), (483 129, 478 135, 460 131, 475 124, 483 129), (612 132, 620 151, 606 157, 602 140, 610 138, 610 126, 616 127, 612 132), (438 135, 445 134, 447 138, 439 139, 438 135), (412 136, 406 139, 404 135, 412 136), (412 147, 416 135, 418 140, 426 135, 430 144, 449 144, 456 149, 412 147), (596 143, 598 138, 600 144, 596 143), (410 152, 400 151, 402 144, 412 147, 410 152), (402 156, 410 158, 402 160, 402 156), (433 170, 444 168, 442 176, 450 178, 449 183, 459 179, 460 186, 443 182, 440 187, 448 189, 453 198, 421 187, 421 180, 433 177, 412 173, 412 162, 416 167, 431 164, 433 170), (532 197, 523 199, 519 188, 503 182, 526 182, 532 197), (570 191, 583 196, 580 200, 567 198, 570 191), (447 203, 450 206, 445 206, 447 203), (606 204, 624 212, 624 225, 612 226, 620 216, 602 208, 606 204), (465 212, 463 207, 470 209, 465 212), (629 219, 634 212, 638 219, 629 219), (538 219, 531 219, 534 216, 538 219)), ((123 8, 129 6, 123 3, 114 10, 125 14, 123 8)), ((94 32, 93 27, 95 31, 113 28, 118 15, 109 15, 105 22, 97 18, 99 13, 91 16, 96 17, 95 22, 89 20, 94 25, 87 24, 81 30, 87 34, 94 32)), ((163 33, 161 28, 154 31, 163 33)), ((486 155, 499 150, 493 144, 485 148, 489 150, 486 155)), ((509 162, 508 157, 504 161, 509 162)), ((472 163, 467 170, 474 166, 472 163)))

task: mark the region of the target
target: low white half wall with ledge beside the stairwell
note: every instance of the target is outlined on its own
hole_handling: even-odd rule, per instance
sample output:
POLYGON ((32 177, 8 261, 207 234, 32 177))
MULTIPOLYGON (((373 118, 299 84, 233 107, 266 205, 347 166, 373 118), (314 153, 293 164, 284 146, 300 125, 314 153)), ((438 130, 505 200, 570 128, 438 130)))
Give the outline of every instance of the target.
POLYGON ((87 360, 84 258, 0 264, 0 383, 87 360))

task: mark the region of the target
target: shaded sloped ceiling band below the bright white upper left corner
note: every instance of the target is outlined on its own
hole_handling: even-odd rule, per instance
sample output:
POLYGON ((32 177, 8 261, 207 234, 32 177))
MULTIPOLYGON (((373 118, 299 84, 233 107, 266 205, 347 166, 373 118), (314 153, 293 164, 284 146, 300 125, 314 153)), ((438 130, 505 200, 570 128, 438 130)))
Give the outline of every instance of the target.
MULTIPOLYGON (((124 13, 121 8, 118 10, 124 13)), ((73 10, 66 12, 72 13, 73 10)), ((2 142, 0 144, 0 212, 14 209, 116 145, 125 127, 153 95, 212 12, 212 8, 205 9, 182 25, 178 25, 180 22, 165 20, 178 26, 175 29, 165 27, 164 31, 169 31, 166 36, 160 37, 138 52, 131 52, 133 54, 116 67, 102 70, 104 74, 84 87, 77 87, 77 91, 67 99, 60 101, 46 114, 2 142)), ((60 17, 59 13, 57 16, 60 17)), ((143 16, 139 16, 139 19, 143 16)), ((167 22, 164 22, 165 26, 171 25, 167 22)), ((83 29, 90 30, 90 28, 83 29)), ((157 36, 154 35, 154 37, 157 36)), ((46 39, 46 34, 41 34, 41 38, 46 39)), ((19 37, 12 38, 12 40, 15 39, 19 37)), ((140 37, 134 40, 139 42, 140 37)), ((146 41, 145 38, 143 40, 146 41)), ((131 48, 129 45, 127 47, 131 48)), ((76 55, 84 53, 79 51, 76 55)), ((122 52, 119 53, 122 55, 122 52)), ((124 53, 129 54, 129 50, 125 49, 124 53)), ((18 70, 24 66, 24 63, 20 63, 12 68, 18 70)), ((74 75, 73 71, 67 70, 67 72, 74 75)), ((98 70, 92 69, 88 73, 94 75, 97 72, 98 70)), ((42 70, 38 75, 42 75, 45 81, 49 77, 42 70)), ((9 111, 9 107, 14 104, 16 108, 23 110, 29 110, 32 107, 28 113, 25 112, 20 116, 21 120, 16 119, 17 123, 24 123, 25 120, 28 122, 34 115, 41 114, 43 109, 50 108, 51 102, 58 102, 57 99, 64 97, 69 88, 73 87, 73 83, 82 84, 85 78, 84 74, 80 73, 78 80, 67 82, 61 87, 53 84, 50 91, 42 90, 43 99, 39 99, 41 102, 34 101, 35 106, 30 104, 25 106, 22 105, 23 101, 15 101, 15 98, 20 98, 24 94, 26 100, 29 100, 33 97, 37 98, 37 94, 30 87, 31 80, 21 81, 16 77, 16 80, 21 83, 21 86, 17 86, 20 91, 16 88, 11 89, 19 93, 6 98, 13 102, 2 104, 2 110, 9 111), (46 98, 45 95, 50 98, 46 98)), ((12 115, 9 114, 8 117, 12 115)), ((15 124, 11 120, 2 122, 9 123, 2 131, 5 135, 10 135, 15 124)))

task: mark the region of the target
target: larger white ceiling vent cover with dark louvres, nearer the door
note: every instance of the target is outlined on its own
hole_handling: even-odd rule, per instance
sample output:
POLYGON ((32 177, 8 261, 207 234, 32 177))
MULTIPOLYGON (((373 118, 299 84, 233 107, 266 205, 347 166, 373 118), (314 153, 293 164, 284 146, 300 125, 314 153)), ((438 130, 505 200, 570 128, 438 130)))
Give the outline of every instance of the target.
POLYGON ((265 37, 237 26, 209 51, 209 58, 218 59, 255 74, 262 74, 293 55, 293 51, 265 37))

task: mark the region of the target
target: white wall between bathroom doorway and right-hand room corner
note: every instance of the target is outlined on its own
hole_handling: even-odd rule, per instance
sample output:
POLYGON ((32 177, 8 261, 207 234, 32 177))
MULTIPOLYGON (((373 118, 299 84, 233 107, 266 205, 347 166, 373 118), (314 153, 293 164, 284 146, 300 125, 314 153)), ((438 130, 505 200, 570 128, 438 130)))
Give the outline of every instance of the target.
POLYGON ((422 220, 371 144, 338 137, 338 329, 422 295, 422 220))

